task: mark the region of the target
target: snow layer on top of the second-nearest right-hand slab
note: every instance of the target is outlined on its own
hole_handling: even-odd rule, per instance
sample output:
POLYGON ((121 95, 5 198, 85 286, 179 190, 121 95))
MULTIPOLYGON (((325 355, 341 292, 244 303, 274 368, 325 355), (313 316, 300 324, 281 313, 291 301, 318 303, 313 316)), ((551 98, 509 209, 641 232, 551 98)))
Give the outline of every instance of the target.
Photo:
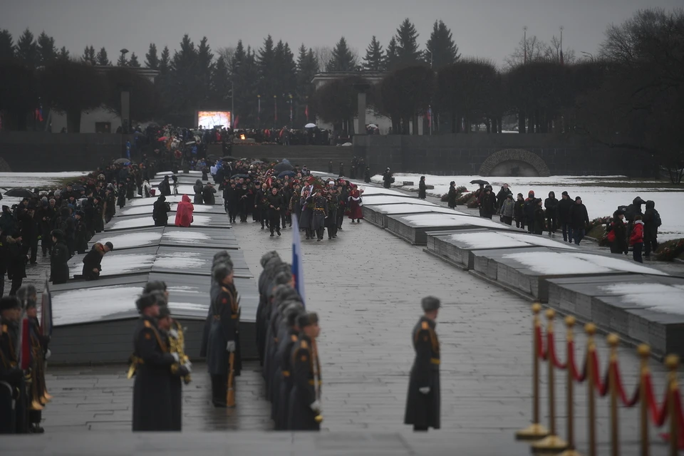
POLYGON ((641 266, 634 261, 626 261, 601 255, 576 252, 519 252, 503 255, 527 266, 537 274, 546 276, 556 274, 605 274, 606 272, 625 271, 638 274, 667 276, 658 269, 641 266))

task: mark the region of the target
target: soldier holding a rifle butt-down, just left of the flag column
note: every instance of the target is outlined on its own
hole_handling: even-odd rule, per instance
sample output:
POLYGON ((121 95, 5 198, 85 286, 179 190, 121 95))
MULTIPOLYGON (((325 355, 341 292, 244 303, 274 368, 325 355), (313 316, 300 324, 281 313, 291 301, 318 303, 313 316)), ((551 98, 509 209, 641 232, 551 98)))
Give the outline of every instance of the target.
POLYGON ((239 309, 237 291, 233 284, 232 264, 224 263, 214 269, 214 281, 221 286, 212 301, 213 320, 207 338, 207 371, 212 378, 214 407, 227 406, 229 356, 236 351, 239 309))

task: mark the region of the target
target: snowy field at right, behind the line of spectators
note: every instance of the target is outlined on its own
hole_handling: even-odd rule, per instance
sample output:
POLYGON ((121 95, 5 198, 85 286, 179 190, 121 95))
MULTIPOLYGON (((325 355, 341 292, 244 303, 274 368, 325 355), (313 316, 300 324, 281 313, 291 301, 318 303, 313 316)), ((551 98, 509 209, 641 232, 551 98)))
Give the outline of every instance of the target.
MULTIPOLYGON (((393 187, 402 190, 418 190, 420 174, 395 173, 393 187), (413 181, 414 185, 403 187, 402 181, 413 181)), ((639 181, 643 187, 632 187, 633 181, 623 176, 551 176, 551 177, 480 177, 480 176, 435 176, 425 175, 425 183, 434 185, 435 190, 427 190, 428 195, 441 197, 449 191, 449 182, 456 182, 456 187, 466 187, 477 190, 477 185, 470 184, 471 180, 483 179, 494 187, 494 193, 499 192, 503 184, 508 184, 513 195, 522 193, 527 197, 529 190, 534 190, 534 196, 546 199, 549 192, 555 192, 560 199, 561 193, 567 191, 571 198, 579 196, 589 212, 589 218, 606 217, 612 215, 620 205, 630 204, 640 196, 644 200, 652 199, 655 209, 660 212, 663 225, 658 229, 658 237, 662 240, 684 237, 684 189, 681 191, 659 188, 658 182, 639 181), (609 183, 611 186, 604 186, 609 183), (625 187, 615 185, 624 184, 625 187)), ((375 175, 371 178, 375 183, 382 184, 383 177, 375 175)), ((666 182, 666 181, 663 181, 666 182)), ((643 208, 642 208, 643 209, 643 208)))

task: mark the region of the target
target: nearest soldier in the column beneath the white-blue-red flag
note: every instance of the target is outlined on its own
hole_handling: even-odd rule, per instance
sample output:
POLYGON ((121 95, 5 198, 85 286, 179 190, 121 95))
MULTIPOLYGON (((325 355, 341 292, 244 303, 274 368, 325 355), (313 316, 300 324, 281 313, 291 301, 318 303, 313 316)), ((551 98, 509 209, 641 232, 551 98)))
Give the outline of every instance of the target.
POLYGON ((318 361, 316 338, 321 332, 318 316, 301 314, 297 318, 299 340, 292 347, 292 390, 288 404, 289 430, 321 430, 321 363, 318 361))

